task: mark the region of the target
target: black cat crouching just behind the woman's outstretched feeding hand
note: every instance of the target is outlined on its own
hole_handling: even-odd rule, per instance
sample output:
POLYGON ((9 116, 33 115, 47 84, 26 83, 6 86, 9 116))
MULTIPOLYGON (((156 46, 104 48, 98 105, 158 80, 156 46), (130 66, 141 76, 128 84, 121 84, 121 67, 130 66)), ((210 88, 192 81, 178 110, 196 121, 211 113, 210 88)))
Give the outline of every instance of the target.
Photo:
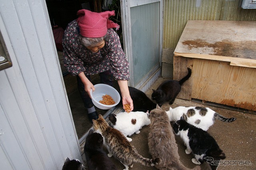
MULTIPOLYGON (((147 95, 134 87, 128 86, 130 96, 133 101, 133 111, 141 111, 141 112, 147 112, 151 111, 152 109, 156 108, 156 103, 154 103, 150 98, 147 97, 147 95)), ((120 103, 122 104, 122 95, 120 92, 120 89, 117 89, 118 93, 120 94, 120 103)))

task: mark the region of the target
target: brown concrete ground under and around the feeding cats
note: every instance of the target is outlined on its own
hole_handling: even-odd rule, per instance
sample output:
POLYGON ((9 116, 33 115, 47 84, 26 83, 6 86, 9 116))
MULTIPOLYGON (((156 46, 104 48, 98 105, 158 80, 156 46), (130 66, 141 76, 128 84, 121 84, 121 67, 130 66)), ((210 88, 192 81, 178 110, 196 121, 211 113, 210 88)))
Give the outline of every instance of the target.
MULTIPOLYGON (((151 98, 152 89, 156 89, 160 83, 165 81, 166 79, 159 77, 157 81, 153 83, 153 85, 145 92, 148 97, 151 98)), ((79 96, 78 96, 79 97, 79 96)), ((73 94, 69 96, 70 99, 70 107, 72 109, 72 114, 75 122, 75 126, 77 128, 78 136, 81 136, 84 132, 90 128, 88 122, 84 121, 86 119, 86 115, 84 112, 83 105, 81 106, 81 101, 79 104, 79 99, 76 95, 73 94), (72 100, 76 101, 76 105, 73 104, 72 100), (80 113, 76 113, 76 111, 80 113), (80 110, 80 111, 79 111, 80 110), (81 112, 81 110, 83 110, 81 112), (79 120, 82 120, 83 123, 80 123, 79 120), (82 128, 83 132, 79 132, 79 128, 82 128)), ((224 123, 216 120, 214 125, 209 128, 208 132, 215 138, 220 148, 226 154, 226 159, 224 160, 226 166, 221 165, 218 167, 218 170, 254 170, 256 169, 256 115, 236 111, 231 109, 226 109, 220 107, 220 105, 212 106, 203 103, 198 103, 194 101, 188 101, 183 99, 175 99, 174 104, 171 105, 172 108, 178 106, 201 106, 201 107, 209 107, 210 109, 216 111, 220 115, 224 117, 236 117, 236 121, 232 123, 224 123), (244 165, 245 164, 250 165, 244 165)), ((166 111, 169 110, 170 105, 166 102, 162 105, 162 108, 166 111)), ((105 111, 102 111, 104 113, 105 111)), ((138 150, 138 153, 144 156, 145 158, 152 158, 148 152, 148 133, 149 127, 145 126, 140 130, 139 134, 133 134, 132 144, 138 150)), ((185 153, 185 146, 183 145, 182 140, 179 136, 176 136, 176 143, 178 144, 178 152, 180 155, 180 160, 184 164, 184 166, 188 168, 194 168, 196 165, 191 162, 191 159, 194 158, 192 154, 185 153)), ((111 158, 113 162, 115 162, 118 169, 124 169, 124 166, 115 158, 111 158)), ((86 164, 85 164, 86 166, 86 164)), ((210 166, 204 162, 204 164, 200 165, 202 170, 210 169, 210 166)), ((85 168, 87 169, 87 168, 85 168)), ((155 167, 146 167, 138 163, 134 163, 133 170, 155 170, 155 167)))

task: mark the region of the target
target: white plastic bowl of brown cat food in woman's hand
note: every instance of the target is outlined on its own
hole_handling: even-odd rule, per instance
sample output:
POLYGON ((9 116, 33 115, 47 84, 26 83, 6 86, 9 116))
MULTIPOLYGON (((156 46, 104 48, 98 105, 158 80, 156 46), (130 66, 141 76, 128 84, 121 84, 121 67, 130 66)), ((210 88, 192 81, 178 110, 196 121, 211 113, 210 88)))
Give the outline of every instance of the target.
POLYGON ((92 91, 91 89, 90 95, 92 97, 92 103, 99 109, 108 110, 120 102, 120 95, 114 87, 106 84, 96 84, 94 87, 95 90, 92 91), (104 95, 110 95, 116 103, 114 105, 104 105, 100 103, 104 95))

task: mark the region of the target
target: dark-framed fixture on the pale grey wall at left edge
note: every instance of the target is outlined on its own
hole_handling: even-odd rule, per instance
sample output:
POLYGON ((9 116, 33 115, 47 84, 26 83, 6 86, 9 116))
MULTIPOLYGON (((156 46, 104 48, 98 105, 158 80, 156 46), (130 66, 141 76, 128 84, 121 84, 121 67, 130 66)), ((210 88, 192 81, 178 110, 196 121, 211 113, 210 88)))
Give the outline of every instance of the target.
POLYGON ((0 32, 0 70, 12 67, 12 61, 7 51, 2 33, 0 32))

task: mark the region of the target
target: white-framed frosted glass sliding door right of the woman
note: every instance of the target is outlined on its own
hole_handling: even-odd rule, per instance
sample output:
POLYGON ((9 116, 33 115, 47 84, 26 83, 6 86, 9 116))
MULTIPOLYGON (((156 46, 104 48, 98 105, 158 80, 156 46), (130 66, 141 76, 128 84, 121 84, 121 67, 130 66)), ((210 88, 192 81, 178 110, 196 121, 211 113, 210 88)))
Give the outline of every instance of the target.
POLYGON ((162 0, 122 1, 124 51, 130 63, 130 86, 139 89, 160 70, 162 0))

